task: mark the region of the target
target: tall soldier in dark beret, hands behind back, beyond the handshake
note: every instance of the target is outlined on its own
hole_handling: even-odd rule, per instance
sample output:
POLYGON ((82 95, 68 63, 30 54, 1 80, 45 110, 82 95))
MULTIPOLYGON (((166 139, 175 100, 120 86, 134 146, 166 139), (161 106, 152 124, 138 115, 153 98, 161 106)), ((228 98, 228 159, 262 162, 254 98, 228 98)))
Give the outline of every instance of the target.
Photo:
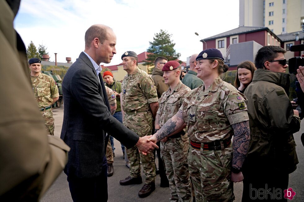
MULTIPOLYGON (((122 55, 123 69, 127 75, 122 83, 121 106, 123 124, 140 137, 152 134, 152 119, 158 110, 156 88, 151 77, 138 68, 136 53, 127 51, 122 55)), ((145 185, 139 191, 140 197, 149 196, 155 190, 155 163, 153 153, 143 155, 136 147, 127 148, 130 161, 130 176, 121 180, 121 185, 140 184, 141 165, 145 173, 145 185)))

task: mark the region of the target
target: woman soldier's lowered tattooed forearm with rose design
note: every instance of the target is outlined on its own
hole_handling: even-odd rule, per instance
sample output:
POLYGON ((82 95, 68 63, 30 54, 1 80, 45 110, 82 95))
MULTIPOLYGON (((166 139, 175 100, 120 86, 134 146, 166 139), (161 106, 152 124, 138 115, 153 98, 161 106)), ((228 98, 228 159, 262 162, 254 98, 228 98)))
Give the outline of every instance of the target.
POLYGON ((232 166, 235 168, 241 168, 248 152, 249 140, 250 140, 250 128, 249 121, 235 123, 232 125, 233 136, 233 158, 232 166))

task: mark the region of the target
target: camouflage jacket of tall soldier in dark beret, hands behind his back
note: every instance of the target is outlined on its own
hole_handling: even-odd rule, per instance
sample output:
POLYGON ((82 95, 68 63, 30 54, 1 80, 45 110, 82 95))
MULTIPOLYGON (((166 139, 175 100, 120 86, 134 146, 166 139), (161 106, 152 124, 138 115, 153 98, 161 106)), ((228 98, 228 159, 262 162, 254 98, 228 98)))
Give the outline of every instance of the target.
POLYGON ((158 102, 156 88, 151 77, 136 67, 131 75, 126 75, 122 83, 123 111, 147 111, 150 103, 158 102))

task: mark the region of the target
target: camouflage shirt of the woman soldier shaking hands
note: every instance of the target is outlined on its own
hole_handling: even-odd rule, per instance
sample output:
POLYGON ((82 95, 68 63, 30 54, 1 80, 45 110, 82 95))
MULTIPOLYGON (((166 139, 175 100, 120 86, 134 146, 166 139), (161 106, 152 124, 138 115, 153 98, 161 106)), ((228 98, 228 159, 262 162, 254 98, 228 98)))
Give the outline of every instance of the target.
POLYGON ((249 119, 246 103, 246 97, 220 77, 207 89, 203 84, 191 90, 180 108, 189 138, 195 142, 231 138, 231 125, 249 119))

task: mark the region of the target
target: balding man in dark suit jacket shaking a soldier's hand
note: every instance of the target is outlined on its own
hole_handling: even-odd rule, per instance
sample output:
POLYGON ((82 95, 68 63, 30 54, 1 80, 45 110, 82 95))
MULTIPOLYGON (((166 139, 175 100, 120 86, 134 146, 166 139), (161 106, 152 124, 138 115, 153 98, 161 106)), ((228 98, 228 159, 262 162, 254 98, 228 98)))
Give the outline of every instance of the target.
POLYGON ((85 50, 62 82, 64 120, 60 138, 71 148, 65 167, 74 201, 107 201, 105 142, 110 133, 128 148, 150 153, 156 144, 140 138, 110 113, 99 64, 116 54, 116 36, 105 25, 92 25, 85 34, 85 50))

